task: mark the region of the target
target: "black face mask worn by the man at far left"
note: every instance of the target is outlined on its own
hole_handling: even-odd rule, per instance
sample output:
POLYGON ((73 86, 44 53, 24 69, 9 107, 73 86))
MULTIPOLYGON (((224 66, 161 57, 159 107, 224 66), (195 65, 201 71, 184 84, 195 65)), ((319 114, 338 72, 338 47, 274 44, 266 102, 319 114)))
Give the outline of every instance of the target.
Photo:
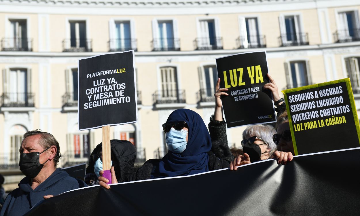
MULTIPOLYGON (((45 149, 42 152, 45 152, 49 148, 45 149)), ((35 176, 37 176, 37 174, 39 174, 39 172, 42 169, 42 167, 44 166, 44 164, 46 162, 48 162, 48 160, 49 160, 48 159, 47 161, 45 161, 45 163, 41 164, 39 162, 41 153, 31 152, 31 153, 21 153, 20 154, 19 166, 20 166, 20 171, 24 175, 29 176, 30 178, 34 178, 35 176)))

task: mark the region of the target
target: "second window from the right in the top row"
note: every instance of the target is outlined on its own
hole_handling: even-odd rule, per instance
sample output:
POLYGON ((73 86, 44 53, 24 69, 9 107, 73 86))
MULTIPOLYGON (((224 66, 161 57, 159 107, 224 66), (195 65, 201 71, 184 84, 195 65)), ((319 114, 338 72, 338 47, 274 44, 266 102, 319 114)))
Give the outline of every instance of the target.
POLYGON ((300 15, 280 15, 279 22, 282 46, 309 45, 300 15))

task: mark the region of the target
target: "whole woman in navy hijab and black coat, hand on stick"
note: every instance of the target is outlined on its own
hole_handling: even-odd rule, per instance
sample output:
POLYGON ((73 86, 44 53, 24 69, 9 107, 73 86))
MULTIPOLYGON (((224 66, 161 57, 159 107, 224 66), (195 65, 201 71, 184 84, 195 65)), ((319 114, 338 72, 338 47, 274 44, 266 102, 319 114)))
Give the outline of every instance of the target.
MULTIPOLYGON (((162 159, 149 159, 140 168, 129 170, 121 179, 116 179, 113 174, 112 183, 193 175, 228 168, 234 159, 228 143, 211 141, 204 121, 190 109, 172 112, 163 124, 163 130, 169 149, 167 154, 162 159)), ((99 185, 110 188, 107 182, 106 178, 99 177, 99 185)))

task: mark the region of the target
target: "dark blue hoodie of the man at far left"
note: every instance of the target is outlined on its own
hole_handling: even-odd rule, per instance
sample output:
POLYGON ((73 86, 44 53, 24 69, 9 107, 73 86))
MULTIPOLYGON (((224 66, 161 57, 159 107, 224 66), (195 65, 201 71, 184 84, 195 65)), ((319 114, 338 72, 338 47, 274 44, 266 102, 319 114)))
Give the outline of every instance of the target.
POLYGON ((13 190, 5 199, 0 216, 19 216, 28 212, 36 203, 44 200, 44 195, 58 195, 69 190, 82 188, 85 182, 70 177, 66 171, 57 168, 35 190, 31 188, 30 177, 24 177, 19 188, 13 190))

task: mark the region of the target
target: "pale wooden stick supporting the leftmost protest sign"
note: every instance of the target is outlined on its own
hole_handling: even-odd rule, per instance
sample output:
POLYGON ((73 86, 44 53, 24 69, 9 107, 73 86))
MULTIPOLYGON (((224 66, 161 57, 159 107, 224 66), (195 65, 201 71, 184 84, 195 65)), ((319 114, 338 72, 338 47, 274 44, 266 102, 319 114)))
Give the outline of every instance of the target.
POLYGON ((110 126, 104 126, 103 129, 103 176, 109 180, 107 184, 111 184, 111 150, 110 150, 110 126))

